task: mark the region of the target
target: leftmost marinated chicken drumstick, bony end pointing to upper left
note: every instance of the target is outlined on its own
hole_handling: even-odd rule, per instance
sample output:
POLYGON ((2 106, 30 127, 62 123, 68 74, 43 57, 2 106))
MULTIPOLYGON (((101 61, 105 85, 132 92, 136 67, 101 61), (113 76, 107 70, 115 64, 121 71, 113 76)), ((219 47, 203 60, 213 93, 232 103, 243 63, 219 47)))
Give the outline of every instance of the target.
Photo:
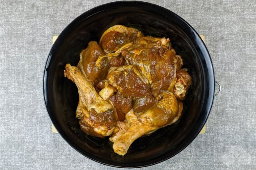
POLYGON ((98 137, 111 135, 116 124, 115 108, 98 95, 93 84, 82 75, 77 67, 66 64, 64 75, 78 88, 80 102, 77 116, 80 118, 79 124, 82 131, 98 137), (81 111, 83 116, 81 116, 81 111))

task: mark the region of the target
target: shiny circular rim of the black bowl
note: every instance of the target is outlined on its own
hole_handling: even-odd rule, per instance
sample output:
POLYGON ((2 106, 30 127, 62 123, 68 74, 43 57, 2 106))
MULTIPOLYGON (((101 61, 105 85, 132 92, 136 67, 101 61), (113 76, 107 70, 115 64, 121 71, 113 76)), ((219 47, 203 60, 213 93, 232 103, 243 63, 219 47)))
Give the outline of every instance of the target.
MULTIPOLYGON (((158 13, 158 10, 156 10, 156 12, 158 13)), ((160 14, 160 13, 158 13, 160 14)), ((168 16, 165 16, 168 17, 168 16)), ((86 11, 85 13, 82 13, 80 16, 78 16, 77 18, 75 18, 73 21, 71 21, 68 26, 66 26, 64 28, 64 30, 59 34, 58 38, 56 39, 55 43, 52 45, 51 50, 48 54, 46 63, 45 63, 45 67, 44 67, 44 73, 43 73, 43 97, 44 97, 44 103, 48 112, 48 115, 53 123, 53 125, 55 126, 56 130, 60 133, 60 136, 73 148, 75 149, 77 152, 81 153, 83 156, 96 161, 98 163, 101 163, 103 165, 107 165, 107 166, 113 166, 113 167, 119 167, 119 168, 140 168, 140 167, 146 167, 146 166, 152 166, 155 164, 158 164, 162 161, 166 161, 167 159, 175 156, 176 154, 178 154, 179 152, 181 152, 183 149, 185 149, 189 144, 192 143, 192 141, 196 138, 196 136, 199 134, 199 132, 201 132, 201 129, 204 127, 208 117, 209 117, 209 113, 210 110, 213 106, 213 100, 214 100, 214 91, 215 91, 215 76, 214 76, 214 69, 213 69, 213 62, 212 59, 210 57, 209 51, 207 49, 207 47, 205 46, 205 43, 203 42, 203 40, 201 39, 200 35, 196 32, 196 30, 193 29, 193 27, 188 24, 187 21, 185 21, 182 17, 179 17, 179 15, 173 13, 171 10, 166 9, 164 7, 161 7, 157 4, 152 4, 152 3, 148 3, 148 2, 142 2, 142 1, 116 1, 116 2, 110 2, 110 3, 106 3, 106 4, 102 4, 99 5, 97 7, 94 7, 88 11, 86 11), (192 34, 195 35, 195 41, 197 43, 197 45, 200 47, 200 50, 202 51, 204 57, 208 58, 206 61, 206 65, 207 65, 207 69, 208 72, 207 74, 209 75, 210 79, 209 79, 209 95, 206 96, 208 97, 207 101, 203 101, 203 103, 205 103, 205 108, 207 109, 205 112, 205 117, 201 120, 201 127, 196 128, 193 133, 193 136, 190 138, 191 140, 185 144, 182 148, 180 148, 175 154, 170 155, 166 155, 164 154, 163 156, 161 156, 161 159, 157 159, 157 160, 150 160, 149 164, 145 164, 145 162, 141 162, 141 163, 137 163, 135 166, 130 166, 128 164, 121 164, 119 163, 118 165, 113 165, 110 163, 107 163, 108 161, 102 161, 100 159, 97 158, 93 158, 92 155, 90 155, 88 153, 88 155, 86 155, 82 149, 79 149, 75 146, 73 146, 72 141, 68 138, 68 136, 66 136, 66 134, 61 130, 60 126, 57 123, 57 120, 55 119, 54 115, 51 114, 51 110, 50 110, 50 106, 49 106, 49 96, 47 94, 47 75, 48 75, 48 67, 51 61, 51 58, 53 57, 52 52, 55 49, 55 46, 57 44, 59 44, 61 42, 62 36, 64 36, 64 34, 66 34, 66 32, 71 29, 74 25, 74 23, 76 23, 77 21, 81 20, 81 18, 85 19, 87 17, 90 17, 91 15, 94 15, 95 13, 98 12, 102 12, 105 10, 109 10, 109 9, 115 9, 115 8, 120 8, 120 7, 125 7, 126 5, 128 6, 135 6, 135 7, 139 7, 139 5, 144 5, 144 6, 150 6, 150 8, 155 8, 158 9, 159 11, 161 10, 161 12, 167 13, 167 14, 171 14, 173 16, 175 16, 180 22, 183 22, 184 26, 186 26, 192 34)), ((191 132, 192 133, 192 132, 191 132)))

